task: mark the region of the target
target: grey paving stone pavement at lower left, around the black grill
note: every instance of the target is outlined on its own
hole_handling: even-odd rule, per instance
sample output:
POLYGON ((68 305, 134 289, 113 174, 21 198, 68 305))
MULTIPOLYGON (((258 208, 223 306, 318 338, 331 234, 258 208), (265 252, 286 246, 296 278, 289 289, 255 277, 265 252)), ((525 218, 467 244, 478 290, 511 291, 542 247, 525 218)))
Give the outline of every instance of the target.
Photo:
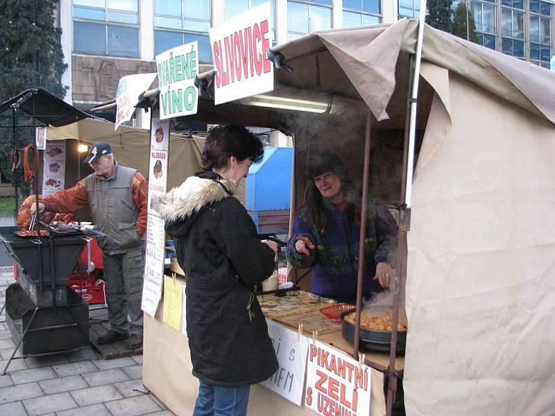
MULTIPOLYGON (((0 308, 12 283, 12 268, 0 268, 0 308)), ((0 373, 15 347, 5 320, 3 312, 0 373)), ((142 363, 142 356, 103 360, 92 348, 15 359, 6 375, 0 375, 0 415, 173 415, 160 400, 145 393, 142 363)))

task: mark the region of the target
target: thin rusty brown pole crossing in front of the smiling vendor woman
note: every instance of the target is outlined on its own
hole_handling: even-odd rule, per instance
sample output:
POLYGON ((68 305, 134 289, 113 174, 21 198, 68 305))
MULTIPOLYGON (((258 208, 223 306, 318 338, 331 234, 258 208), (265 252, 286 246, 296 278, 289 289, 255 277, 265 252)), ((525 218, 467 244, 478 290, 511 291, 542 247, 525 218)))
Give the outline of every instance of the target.
POLYGON ((368 205, 368 177, 370 176, 370 110, 366 118, 366 131, 364 132, 364 171, 362 174, 362 200, 360 214, 359 237, 359 272, 357 275, 357 310, 355 312, 355 338, 353 339, 352 356, 359 359, 360 347, 360 313, 362 309, 362 282, 364 277, 364 239, 366 237, 366 207, 368 205))

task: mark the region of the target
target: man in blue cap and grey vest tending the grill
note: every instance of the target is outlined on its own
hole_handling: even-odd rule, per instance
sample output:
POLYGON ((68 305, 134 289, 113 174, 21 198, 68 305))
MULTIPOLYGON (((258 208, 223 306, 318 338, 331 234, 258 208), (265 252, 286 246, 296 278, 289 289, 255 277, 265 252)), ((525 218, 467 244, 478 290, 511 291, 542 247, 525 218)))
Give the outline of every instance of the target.
MULTIPOLYGON (((119 165, 108 143, 99 141, 85 162, 94 173, 74 187, 62 189, 39 202, 40 212, 76 211, 88 205, 103 250, 106 302, 110 331, 99 344, 127 340, 128 349, 142 347, 141 298, 146 232, 146 180, 137 169, 119 165), (130 320, 128 320, 128 315, 130 320)), ((33 206, 34 210, 34 206, 33 206)))

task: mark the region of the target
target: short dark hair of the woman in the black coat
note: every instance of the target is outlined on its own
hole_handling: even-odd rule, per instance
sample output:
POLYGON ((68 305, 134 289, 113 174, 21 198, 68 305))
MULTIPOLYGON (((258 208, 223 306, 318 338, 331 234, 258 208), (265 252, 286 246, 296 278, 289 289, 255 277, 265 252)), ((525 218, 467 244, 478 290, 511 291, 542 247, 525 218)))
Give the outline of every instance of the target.
POLYGON ((264 156, 262 141, 243 125, 234 123, 216 125, 206 137, 201 155, 203 169, 210 171, 214 168, 225 168, 232 156, 237 157, 239 162, 252 159, 253 163, 258 163, 264 156))

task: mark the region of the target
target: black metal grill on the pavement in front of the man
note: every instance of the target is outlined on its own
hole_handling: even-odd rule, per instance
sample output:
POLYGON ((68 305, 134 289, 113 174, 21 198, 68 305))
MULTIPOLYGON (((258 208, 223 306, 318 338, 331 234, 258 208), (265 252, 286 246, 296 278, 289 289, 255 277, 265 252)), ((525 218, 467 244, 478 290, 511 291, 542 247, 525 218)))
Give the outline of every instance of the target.
POLYGON ((25 356, 88 345, 89 306, 67 287, 87 241, 54 232, 24 238, 17 230, 0 227, 0 241, 17 264, 17 283, 6 290, 6 323, 19 351, 25 356))

